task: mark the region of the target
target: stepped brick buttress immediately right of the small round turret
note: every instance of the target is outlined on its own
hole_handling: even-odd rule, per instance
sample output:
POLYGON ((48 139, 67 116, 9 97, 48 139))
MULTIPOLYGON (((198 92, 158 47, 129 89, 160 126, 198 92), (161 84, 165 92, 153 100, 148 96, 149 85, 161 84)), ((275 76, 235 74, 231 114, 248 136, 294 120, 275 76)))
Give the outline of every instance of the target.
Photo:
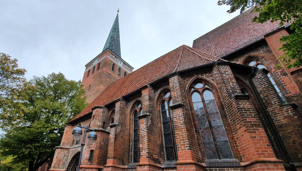
POLYGON ((115 103, 114 124, 110 125, 109 145, 106 170, 119 170, 122 168, 122 151, 125 147, 122 134, 125 131, 125 109, 126 101, 119 99, 115 103))

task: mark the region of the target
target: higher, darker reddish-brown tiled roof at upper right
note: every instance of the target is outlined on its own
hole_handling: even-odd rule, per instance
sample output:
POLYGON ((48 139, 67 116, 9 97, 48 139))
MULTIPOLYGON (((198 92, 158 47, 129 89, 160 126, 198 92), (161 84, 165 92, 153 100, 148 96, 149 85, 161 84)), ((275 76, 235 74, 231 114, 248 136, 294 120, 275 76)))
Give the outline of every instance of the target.
MULTIPOLYGON (((222 58, 281 28, 279 21, 273 23, 270 21, 265 23, 252 22, 258 13, 251 13, 251 10, 252 8, 195 39, 193 48, 222 58)), ((289 25, 290 23, 286 23, 284 26, 289 25)))

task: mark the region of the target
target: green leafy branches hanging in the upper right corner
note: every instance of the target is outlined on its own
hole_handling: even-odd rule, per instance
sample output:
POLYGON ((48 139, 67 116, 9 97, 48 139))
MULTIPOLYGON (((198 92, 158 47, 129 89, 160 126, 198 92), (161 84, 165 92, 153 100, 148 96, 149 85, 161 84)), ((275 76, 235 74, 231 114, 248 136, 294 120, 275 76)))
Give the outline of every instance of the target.
POLYGON ((219 0, 218 5, 230 5, 228 13, 240 9, 240 13, 255 6, 251 11, 259 12, 259 17, 253 22, 264 23, 280 21, 280 26, 291 22, 294 33, 280 38, 285 42, 279 50, 285 53, 279 59, 284 61, 287 68, 302 66, 302 1, 301 0, 219 0))

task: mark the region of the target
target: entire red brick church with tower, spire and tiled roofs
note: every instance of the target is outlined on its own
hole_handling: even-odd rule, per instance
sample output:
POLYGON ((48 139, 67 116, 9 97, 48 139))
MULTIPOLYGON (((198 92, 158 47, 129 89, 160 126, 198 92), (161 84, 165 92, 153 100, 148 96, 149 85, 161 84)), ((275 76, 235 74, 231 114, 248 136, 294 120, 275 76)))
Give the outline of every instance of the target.
POLYGON ((132 72, 117 14, 103 51, 85 65, 90 104, 65 126, 50 171, 76 170, 77 125, 97 133, 81 171, 302 170, 302 69, 276 67, 278 39, 292 31, 252 23, 255 15, 132 72))

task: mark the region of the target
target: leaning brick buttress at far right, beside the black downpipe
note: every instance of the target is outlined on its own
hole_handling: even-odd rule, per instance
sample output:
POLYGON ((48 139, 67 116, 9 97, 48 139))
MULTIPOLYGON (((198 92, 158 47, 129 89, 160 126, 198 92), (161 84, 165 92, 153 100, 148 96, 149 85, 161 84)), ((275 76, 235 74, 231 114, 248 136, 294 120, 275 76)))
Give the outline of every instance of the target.
POLYGON ((294 104, 283 104, 268 80, 266 70, 256 71, 252 81, 281 136, 292 162, 302 162, 302 121, 294 110, 294 104))

